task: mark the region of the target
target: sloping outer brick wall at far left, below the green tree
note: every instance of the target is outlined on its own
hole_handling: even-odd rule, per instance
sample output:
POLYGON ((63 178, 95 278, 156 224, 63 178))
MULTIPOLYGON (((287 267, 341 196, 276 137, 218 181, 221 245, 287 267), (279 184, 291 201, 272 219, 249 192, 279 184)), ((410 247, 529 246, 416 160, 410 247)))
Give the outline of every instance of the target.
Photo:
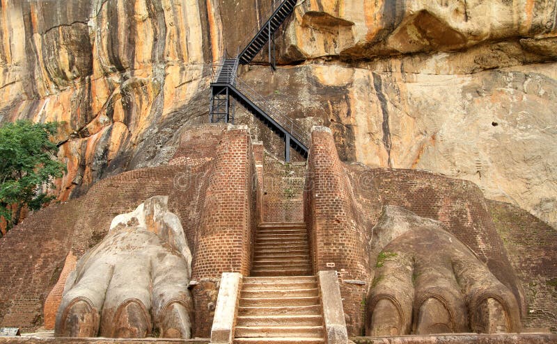
POLYGON ((42 325, 42 304, 72 246, 81 202, 54 204, 30 215, 0 239, 0 326, 23 331, 42 325))

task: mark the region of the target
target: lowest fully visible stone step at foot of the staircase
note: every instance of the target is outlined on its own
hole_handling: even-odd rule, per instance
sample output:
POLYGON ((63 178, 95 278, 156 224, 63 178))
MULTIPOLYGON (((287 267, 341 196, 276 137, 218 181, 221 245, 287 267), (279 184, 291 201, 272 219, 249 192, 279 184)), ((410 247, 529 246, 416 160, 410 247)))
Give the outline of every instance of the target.
POLYGON ((237 326, 236 337, 319 337, 323 338, 322 326, 237 326))

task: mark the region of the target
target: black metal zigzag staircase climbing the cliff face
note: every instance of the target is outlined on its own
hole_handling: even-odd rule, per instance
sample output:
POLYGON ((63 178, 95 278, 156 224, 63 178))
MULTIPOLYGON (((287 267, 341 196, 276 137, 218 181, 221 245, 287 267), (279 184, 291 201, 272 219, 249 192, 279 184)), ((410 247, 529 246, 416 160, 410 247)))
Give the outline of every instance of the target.
POLYGON ((213 65, 213 80, 211 83, 210 122, 234 122, 234 108, 230 98, 235 99, 246 110, 252 113, 278 136, 284 138, 285 161, 290 161, 290 147, 295 149, 304 158, 308 157, 306 131, 288 116, 280 115, 281 111, 274 108, 269 102, 237 78, 238 64, 246 65, 255 58, 262 47, 269 42, 269 62, 272 51, 271 42, 274 33, 285 19, 292 13, 297 0, 283 0, 278 4, 273 14, 251 42, 236 58, 223 58, 221 63, 213 65))

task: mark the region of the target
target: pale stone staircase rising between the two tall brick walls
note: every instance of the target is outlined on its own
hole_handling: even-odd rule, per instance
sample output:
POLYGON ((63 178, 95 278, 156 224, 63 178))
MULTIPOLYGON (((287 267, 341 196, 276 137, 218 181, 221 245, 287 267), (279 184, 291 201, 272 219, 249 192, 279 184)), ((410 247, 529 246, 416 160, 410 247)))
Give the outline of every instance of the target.
POLYGON ((244 277, 234 343, 324 343, 317 277, 302 223, 261 224, 244 277))

